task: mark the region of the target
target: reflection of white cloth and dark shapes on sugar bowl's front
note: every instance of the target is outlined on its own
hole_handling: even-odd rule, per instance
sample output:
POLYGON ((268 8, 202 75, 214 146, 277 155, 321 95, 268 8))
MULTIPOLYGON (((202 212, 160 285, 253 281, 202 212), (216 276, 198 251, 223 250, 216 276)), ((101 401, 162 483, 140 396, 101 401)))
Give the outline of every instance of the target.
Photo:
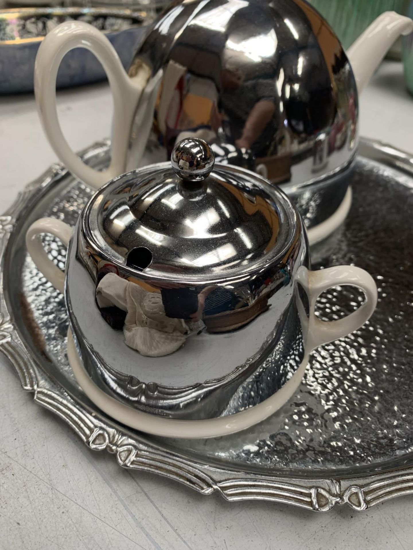
POLYGON ((156 357, 173 353, 190 334, 205 327, 222 333, 251 322, 268 309, 273 293, 271 279, 256 284, 262 295, 253 299, 249 285, 237 293, 216 284, 199 292, 172 282, 132 282, 104 270, 96 287, 96 304, 112 328, 123 329, 129 347, 156 357))

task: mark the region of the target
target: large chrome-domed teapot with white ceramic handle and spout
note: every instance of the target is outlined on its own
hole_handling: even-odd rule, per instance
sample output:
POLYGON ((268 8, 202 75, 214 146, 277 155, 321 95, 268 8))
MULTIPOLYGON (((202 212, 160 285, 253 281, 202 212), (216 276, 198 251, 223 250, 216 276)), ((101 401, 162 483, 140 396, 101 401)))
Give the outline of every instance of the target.
POLYGON ((89 25, 57 27, 37 56, 36 99, 59 158, 96 188, 138 166, 153 127, 169 155, 176 140, 198 136, 220 162, 280 184, 311 228, 343 204, 357 151, 357 94, 396 38, 411 30, 411 19, 387 12, 346 53, 303 0, 173 2, 128 74, 89 25), (111 84, 112 162, 103 173, 81 163, 57 120, 57 70, 75 47, 96 54, 111 84))

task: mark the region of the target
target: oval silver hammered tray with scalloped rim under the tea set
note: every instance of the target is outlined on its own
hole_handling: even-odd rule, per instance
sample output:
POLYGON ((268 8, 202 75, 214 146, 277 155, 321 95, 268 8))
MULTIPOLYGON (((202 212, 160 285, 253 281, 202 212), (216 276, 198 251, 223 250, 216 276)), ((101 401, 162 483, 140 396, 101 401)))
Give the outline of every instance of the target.
MULTIPOLYGON (((148 162, 156 158, 150 147, 146 153, 148 162)), ((128 430, 90 403, 68 366, 63 297, 36 270, 24 245, 34 219, 55 216, 74 224, 92 194, 61 165, 29 184, 0 217, 0 351, 21 386, 90 448, 204 494, 327 511, 344 503, 363 510, 412 493, 413 159, 367 141, 361 155, 351 177, 349 217, 312 259, 316 267, 350 262, 371 272, 377 311, 356 333, 314 351, 298 392, 276 415, 233 436, 174 441, 128 430)), ((82 157, 105 167, 108 142, 82 157)), ((44 239, 63 267, 62 245, 44 239)), ((354 309, 361 297, 349 288, 322 295, 320 317, 345 315, 349 294, 354 309)))

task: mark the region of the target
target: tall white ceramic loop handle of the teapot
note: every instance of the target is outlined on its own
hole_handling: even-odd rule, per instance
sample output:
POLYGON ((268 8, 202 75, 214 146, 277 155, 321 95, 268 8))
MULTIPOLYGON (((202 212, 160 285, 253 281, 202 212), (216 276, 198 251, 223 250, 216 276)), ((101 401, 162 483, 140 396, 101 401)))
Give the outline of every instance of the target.
POLYGON ((98 189, 125 172, 129 132, 149 69, 129 78, 115 48, 95 27, 83 21, 66 21, 42 41, 35 63, 35 96, 40 118, 56 155, 78 178, 98 189), (103 65, 113 95, 112 160, 104 172, 86 166, 70 149, 59 125, 56 109, 56 76, 64 55, 73 48, 86 48, 103 65))

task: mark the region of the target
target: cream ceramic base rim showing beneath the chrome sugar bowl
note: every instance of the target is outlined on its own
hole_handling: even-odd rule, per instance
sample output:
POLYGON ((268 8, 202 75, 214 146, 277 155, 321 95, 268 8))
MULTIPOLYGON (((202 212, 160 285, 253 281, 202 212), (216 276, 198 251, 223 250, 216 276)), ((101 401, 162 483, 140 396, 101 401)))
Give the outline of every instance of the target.
POLYGON ((308 364, 308 354, 305 354, 304 360, 294 375, 278 392, 249 409, 236 412, 233 415, 219 416, 212 419, 181 420, 165 418, 164 416, 157 416, 149 412, 133 409, 96 386, 83 366, 70 328, 67 333, 67 356, 70 368, 72 368, 79 386, 88 398, 105 414, 140 432, 150 433, 154 436, 183 439, 226 436, 230 433, 246 430, 246 428, 262 422, 278 411, 294 395, 298 386, 300 386, 308 364))

